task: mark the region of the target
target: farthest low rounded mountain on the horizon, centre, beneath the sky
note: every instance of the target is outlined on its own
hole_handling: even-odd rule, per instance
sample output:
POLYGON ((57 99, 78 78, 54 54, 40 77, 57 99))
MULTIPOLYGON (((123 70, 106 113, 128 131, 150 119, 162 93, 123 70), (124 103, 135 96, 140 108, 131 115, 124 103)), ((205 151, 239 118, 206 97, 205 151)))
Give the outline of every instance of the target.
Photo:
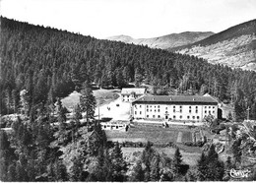
POLYGON ((212 31, 185 31, 181 33, 171 33, 154 38, 138 38, 135 39, 128 35, 116 35, 107 37, 108 40, 122 41, 125 43, 134 43, 140 45, 148 45, 152 48, 167 49, 171 47, 186 45, 204 39, 213 35, 212 31))

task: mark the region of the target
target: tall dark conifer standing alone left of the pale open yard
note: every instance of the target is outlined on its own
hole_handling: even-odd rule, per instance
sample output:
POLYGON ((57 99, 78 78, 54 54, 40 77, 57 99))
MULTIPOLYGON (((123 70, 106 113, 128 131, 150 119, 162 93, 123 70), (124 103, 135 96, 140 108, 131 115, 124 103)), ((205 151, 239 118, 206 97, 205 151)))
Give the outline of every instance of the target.
POLYGON ((95 119, 96 98, 88 82, 85 82, 80 96, 80 106, 83 112, 86 112, 87 126, 89 128, 90 120, 95 119))

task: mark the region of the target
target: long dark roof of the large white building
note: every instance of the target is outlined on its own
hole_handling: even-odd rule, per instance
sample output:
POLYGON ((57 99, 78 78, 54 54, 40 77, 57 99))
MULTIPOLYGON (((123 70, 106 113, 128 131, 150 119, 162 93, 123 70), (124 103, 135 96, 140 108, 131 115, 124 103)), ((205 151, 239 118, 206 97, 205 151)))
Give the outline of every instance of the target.
POLYGON ((218 101, 210 96, 202 95, 146 95, 132 102, 135 103, 165 103, 165 104, 212 104, 217 105, 218 101))

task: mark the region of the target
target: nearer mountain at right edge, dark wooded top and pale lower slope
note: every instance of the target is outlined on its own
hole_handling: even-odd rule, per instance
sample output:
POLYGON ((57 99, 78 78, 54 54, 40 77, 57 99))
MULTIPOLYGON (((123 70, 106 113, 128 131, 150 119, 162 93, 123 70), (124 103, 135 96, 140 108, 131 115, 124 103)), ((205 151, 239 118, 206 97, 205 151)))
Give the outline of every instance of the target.
POLYGON ((198 56, 212 64, 256 71, 256 20, 168 50, 198 56))

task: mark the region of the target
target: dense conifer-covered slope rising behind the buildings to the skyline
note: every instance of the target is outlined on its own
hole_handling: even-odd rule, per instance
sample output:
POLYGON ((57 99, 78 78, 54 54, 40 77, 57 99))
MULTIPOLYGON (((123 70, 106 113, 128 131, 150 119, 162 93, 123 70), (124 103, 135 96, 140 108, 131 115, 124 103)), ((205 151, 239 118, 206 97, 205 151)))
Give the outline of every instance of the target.
POLYGON ((19 92, 24 89, 30 112, 38 103, 46 104, 81 89, 85 81, 101 87, 143 81, 159 87, 161 93, 209 92, 221 100, 236 101, 241 115, 248 106, 255 106, 255 72, 2 17, 0 37, 1 114, 18 111, 19 92))

